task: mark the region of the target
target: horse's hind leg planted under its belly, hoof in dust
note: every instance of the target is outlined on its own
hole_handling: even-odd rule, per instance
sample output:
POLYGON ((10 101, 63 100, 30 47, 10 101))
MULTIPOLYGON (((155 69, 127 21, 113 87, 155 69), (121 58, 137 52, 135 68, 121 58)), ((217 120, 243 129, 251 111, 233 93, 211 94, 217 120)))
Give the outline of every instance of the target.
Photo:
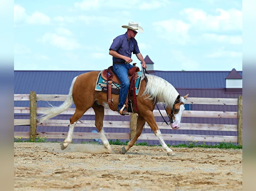
POLYGON ((97 105, 96 103, 94 103, 93 110, 95 112, 95 126, 97 127, 101 135, 101 140, 103 142, 104 147, 107 149, 109 153, 115 153, 115 151, 110 146, 103 129, 104 106, 97 105))

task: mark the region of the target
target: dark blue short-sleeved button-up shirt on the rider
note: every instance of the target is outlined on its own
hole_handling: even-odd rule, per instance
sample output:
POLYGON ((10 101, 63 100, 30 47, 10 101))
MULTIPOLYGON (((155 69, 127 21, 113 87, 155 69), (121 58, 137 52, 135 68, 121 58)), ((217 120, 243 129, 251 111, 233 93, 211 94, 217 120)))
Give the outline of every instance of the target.
MULTIPOLYGON (((137 41, 135 40, 135 38, 131 38, 129 42, 127 32, 123 35, 116 37, 113 40, 113 43, 110 46, 109 50, 111 49, 123 56, 127 56, 130 58, 132 57, 132 53, 140 53, 137 41)), ((113 57, 113 62, 125 62, 125 60, 113 57)))

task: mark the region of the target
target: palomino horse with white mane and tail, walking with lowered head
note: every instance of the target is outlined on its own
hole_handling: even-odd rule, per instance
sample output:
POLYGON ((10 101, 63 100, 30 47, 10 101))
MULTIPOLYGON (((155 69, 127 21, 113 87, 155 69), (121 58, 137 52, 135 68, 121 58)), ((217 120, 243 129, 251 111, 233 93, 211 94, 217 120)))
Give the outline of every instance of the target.
MULTIPOLYGON (((45 114, 38 118, 38 122, 42 122, 67 110, 73 102, 75 103, 76 111, 70 118, 69 132, 67 138, 61 144, 62 150, 67 148, 67 146, 72 142, 72 135, 77 121, 89 108, 92 107, 95 111, 95 126, 100 133, 103 145, 109 153, 114 153, 103 129, 104 107, 109 108, 109 106, 106 93, 95 90, 98 75, 98 71, 92 71, 75 77, 72 81, 66 101, 59 107, 51 105, 51 107, 47 108, 45 114)), ((145 77, 142 76, 140 91, 136 96, 138 111, 135 111, 133 108, 133 111, 138 113, 136 133, 128 142, 127 146, 122 148, 122 153, 125 154, 134 145, 137 138, 141 135, 145 122, 147 122, 167 154, 169 156, 175 155, 175 153, 165 144, 162 138, 161 132, 153 115, 153 110, 157 103, 165 104, 166 112, 170 116, 169 122, 171 123, 171 128, 177 129, 180 127, 181 114, 184 110, 185 99, 188 94, 184 97, 180 96, 171 84, 160 77, 148 74, 146 74, 146 77, 148 82, 146 83, 145 80, 143 80, 145 77)), ((117 108, 118 99, 119 95, 112 95, 112 101, 115 108, 117 108)), ((134 107, 133 97, 131 97, 131 100, 134 107)))

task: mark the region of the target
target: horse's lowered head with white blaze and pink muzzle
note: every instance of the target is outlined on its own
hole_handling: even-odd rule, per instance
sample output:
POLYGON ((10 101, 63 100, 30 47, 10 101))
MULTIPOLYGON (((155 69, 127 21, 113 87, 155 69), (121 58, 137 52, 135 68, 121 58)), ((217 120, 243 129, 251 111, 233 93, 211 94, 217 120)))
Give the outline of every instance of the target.
POLYGON ((169 116, 170 119, 170 124, 172 129, 178 129, 180 127, 180 121, 181 121, 181 115, 182 112, 184 111, 185 107, 185 99, 187 98, 189 94, 185 96, 180 96, 176 98, 173 107, 167 107, 166 112, 169 116))

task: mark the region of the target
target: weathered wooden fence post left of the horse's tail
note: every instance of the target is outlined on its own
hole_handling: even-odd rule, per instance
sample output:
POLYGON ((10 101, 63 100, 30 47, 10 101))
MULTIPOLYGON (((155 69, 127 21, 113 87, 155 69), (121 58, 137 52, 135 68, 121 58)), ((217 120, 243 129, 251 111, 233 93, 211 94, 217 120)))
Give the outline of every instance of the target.
POLYGON ((30 92, 30 139, 35 142, 36 138, 36 94, 35 92, 30 92))

